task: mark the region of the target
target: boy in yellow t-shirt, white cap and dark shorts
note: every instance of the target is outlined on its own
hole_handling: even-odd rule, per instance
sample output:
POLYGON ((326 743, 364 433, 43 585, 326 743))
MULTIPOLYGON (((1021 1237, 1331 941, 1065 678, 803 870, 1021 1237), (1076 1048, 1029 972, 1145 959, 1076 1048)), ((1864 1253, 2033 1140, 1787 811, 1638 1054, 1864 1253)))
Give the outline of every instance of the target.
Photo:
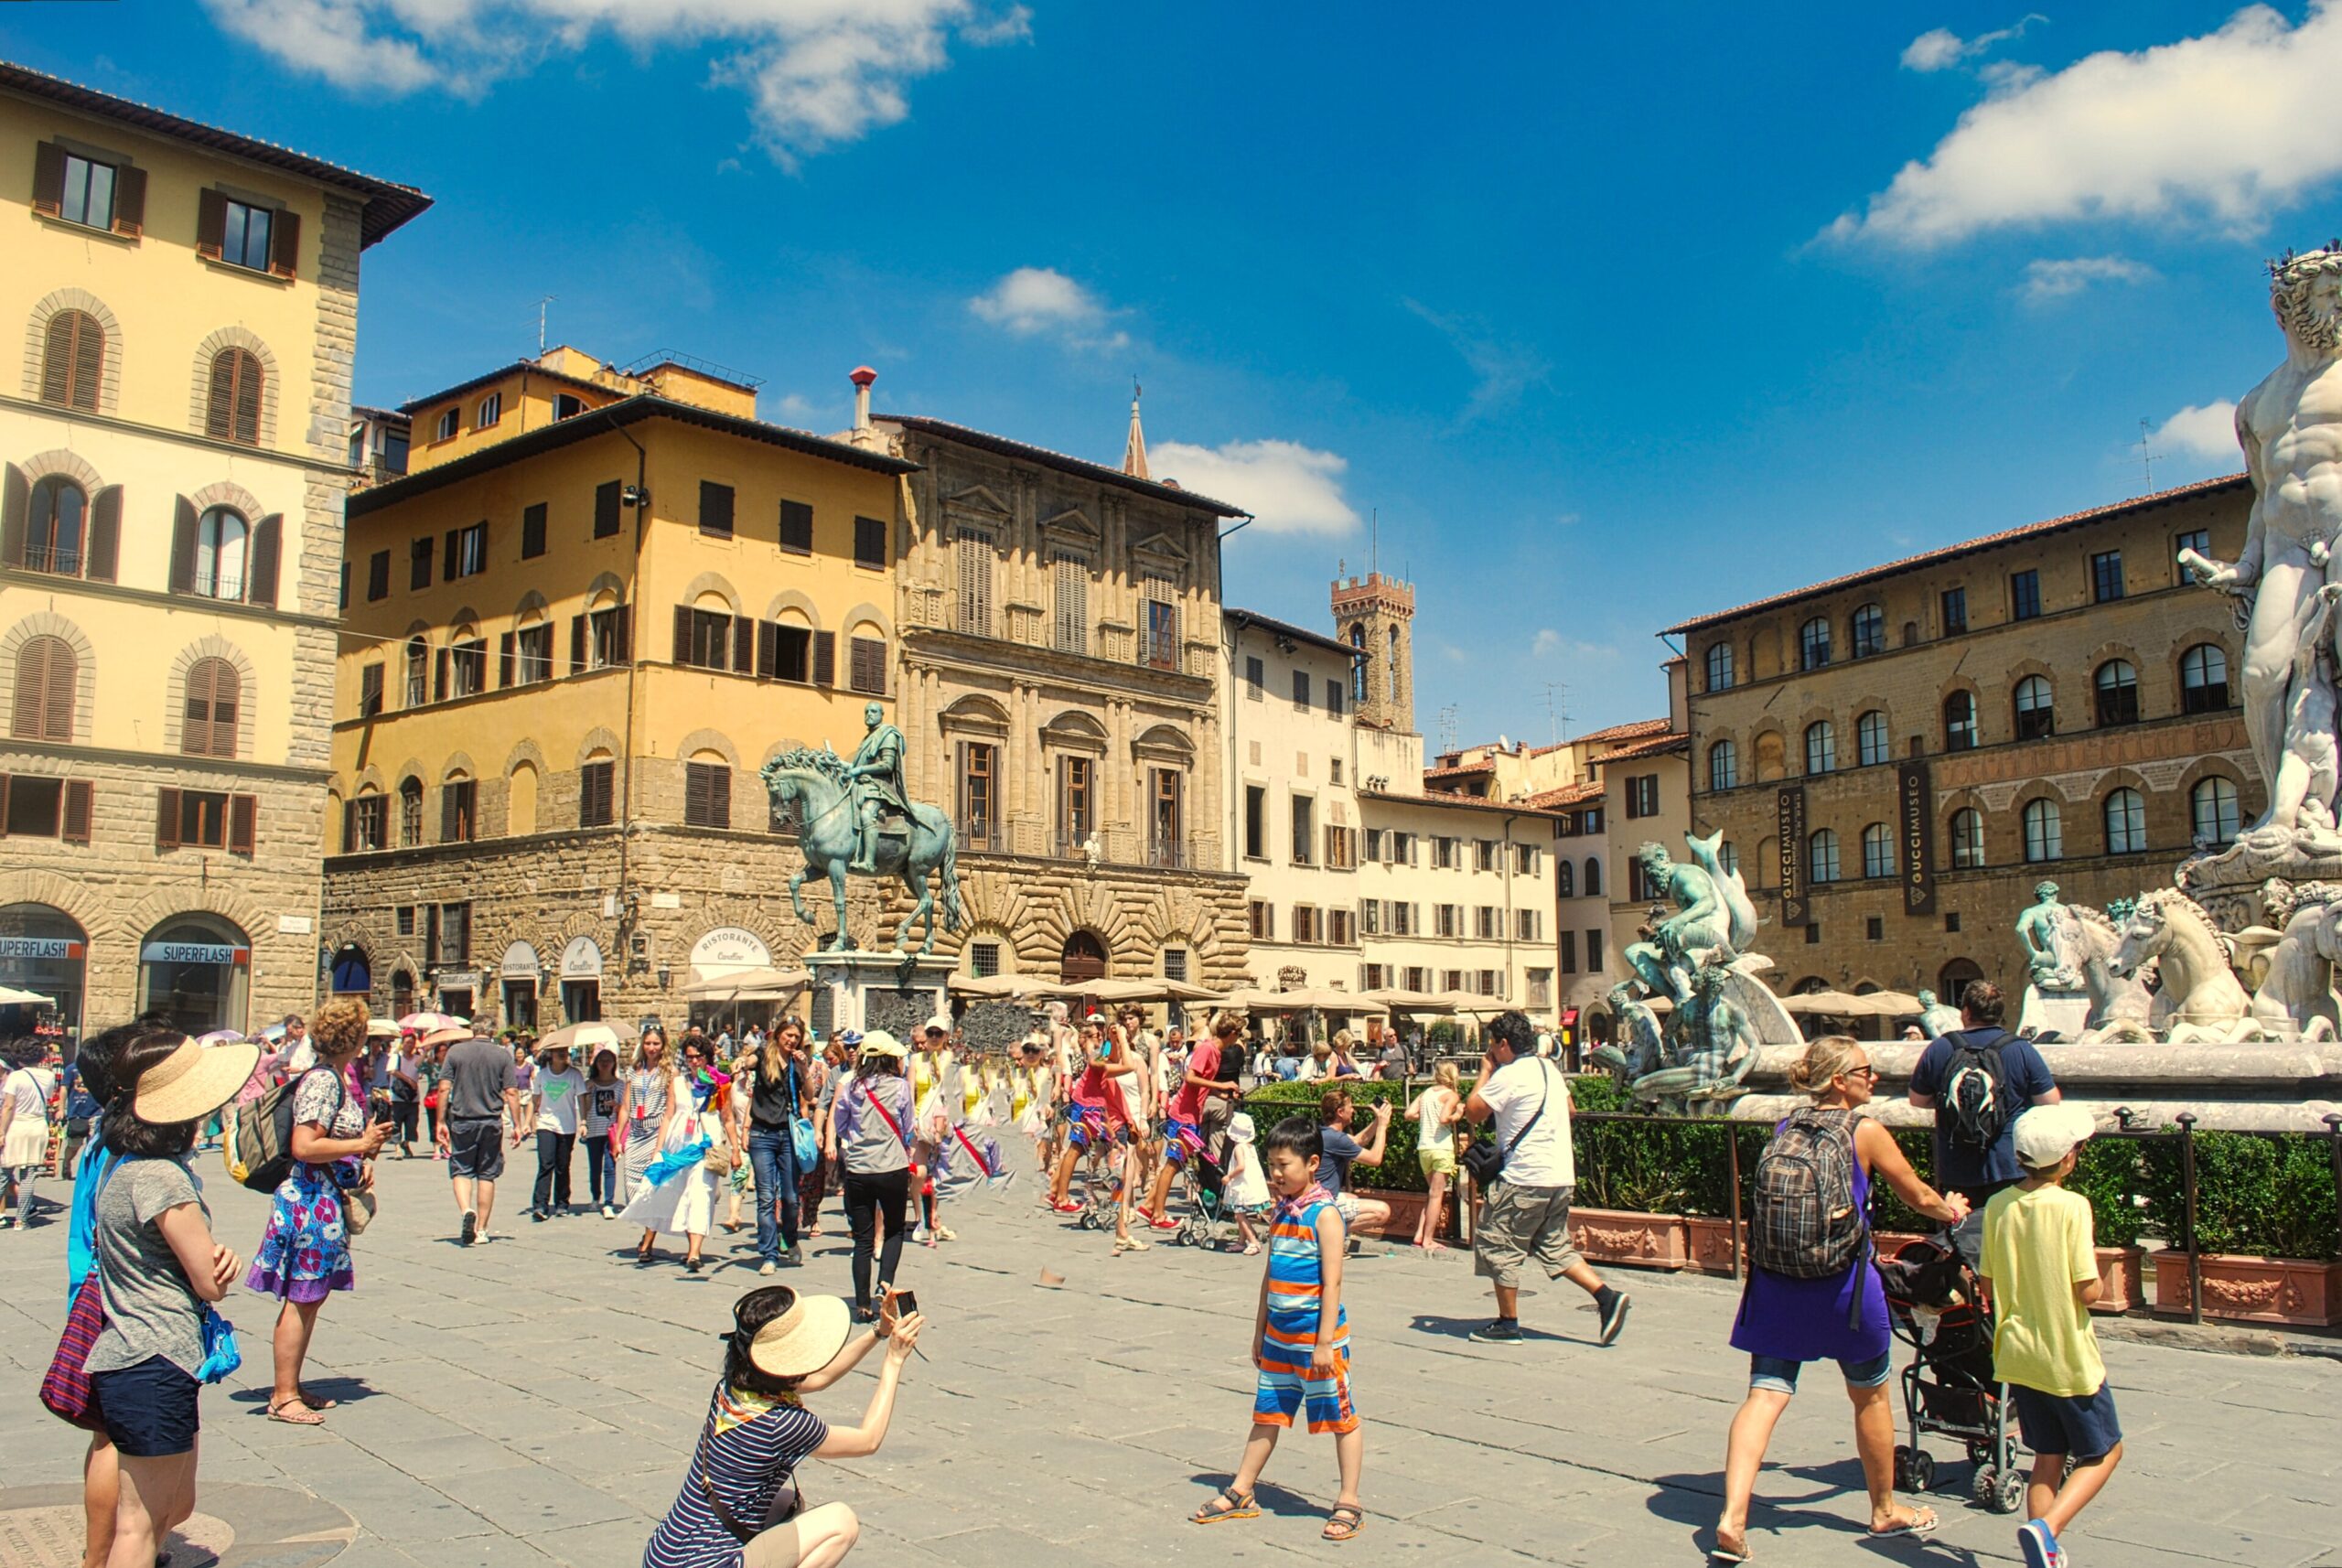
POLYGON ((2098 1257, 2089 1201, 2063 1189, 2075 1149, 2094 1133, 2089 1112, 2038 1105, 2016 1119, 2023 1180, 1984 1205, 1984 1282, 1993 1292, 1993 1371, 2009 1385, 2016 1430, 2033 1449, 2026 1568, 2066 1568, 2059 1535, 2098 1495, 2122 1460, 2115 1395, 2089 1327, 2098 1257), (2073 1456, 2073 1474, 2066 1458, 2073 1456))

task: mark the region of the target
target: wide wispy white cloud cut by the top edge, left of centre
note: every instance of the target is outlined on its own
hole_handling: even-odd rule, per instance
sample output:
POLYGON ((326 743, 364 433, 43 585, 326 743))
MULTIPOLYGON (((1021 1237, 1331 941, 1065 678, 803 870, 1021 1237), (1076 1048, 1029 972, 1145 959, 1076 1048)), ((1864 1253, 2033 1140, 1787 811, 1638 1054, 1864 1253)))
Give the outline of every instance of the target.
POLYGON ((600 33, 649 54, 712 51, 710 77, 749 94, 782 164, 911 112, 904 84, 949 44, 1030 35, 1023 5, 988 0, 204 0, 227 33, 349 91, 487 91, 600 33))

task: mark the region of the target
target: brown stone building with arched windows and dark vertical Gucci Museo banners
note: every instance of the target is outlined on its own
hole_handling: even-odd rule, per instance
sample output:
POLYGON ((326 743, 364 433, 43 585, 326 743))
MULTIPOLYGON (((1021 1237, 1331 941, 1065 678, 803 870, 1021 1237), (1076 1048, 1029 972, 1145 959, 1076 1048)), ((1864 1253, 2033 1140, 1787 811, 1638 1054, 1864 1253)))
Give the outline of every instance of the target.
POLYGON ((1991 534, 1670 627, 1691 826, 1724 828, 1782 988, 1951 995, 2026 969, 2033 887, 2166 887, 2262 810, 2230 601, 2251 487, 2211 480, 1991 534))

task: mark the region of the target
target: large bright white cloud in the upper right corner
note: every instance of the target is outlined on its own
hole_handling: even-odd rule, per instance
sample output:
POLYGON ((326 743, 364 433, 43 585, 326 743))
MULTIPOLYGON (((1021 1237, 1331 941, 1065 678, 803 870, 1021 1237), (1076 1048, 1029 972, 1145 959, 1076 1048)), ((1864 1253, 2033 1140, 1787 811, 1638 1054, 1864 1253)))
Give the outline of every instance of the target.
POLYGON ((2342 0, 2309 0, 2300 26, 2253 5, 2201 37, 2002 75, 1829 234, 1934 246, 2077 218, 2253 232, 2342 173, 2337 75, 2342 0))

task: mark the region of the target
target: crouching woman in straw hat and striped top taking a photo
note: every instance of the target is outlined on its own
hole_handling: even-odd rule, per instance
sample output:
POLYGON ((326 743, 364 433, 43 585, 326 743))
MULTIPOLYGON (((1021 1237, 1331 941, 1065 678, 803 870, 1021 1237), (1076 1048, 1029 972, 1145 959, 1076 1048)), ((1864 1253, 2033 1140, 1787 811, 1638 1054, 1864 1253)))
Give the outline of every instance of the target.
POLYGON ((923 1320, 885 1318, 855 1334, 836 1297, 787 1285, 733 1304, 724 1378, 674 1507, 658 1521, 642 1568, 829 1568, 852 1552, 862 1521, 843 1502, 803 1507, 794 1472, 806 1458, 867 1458, 885 1442, 895 1388, 923 1320), (885 1364, 862 1425, 834 1428, 803 1407, 885 1341, 885 1364))

